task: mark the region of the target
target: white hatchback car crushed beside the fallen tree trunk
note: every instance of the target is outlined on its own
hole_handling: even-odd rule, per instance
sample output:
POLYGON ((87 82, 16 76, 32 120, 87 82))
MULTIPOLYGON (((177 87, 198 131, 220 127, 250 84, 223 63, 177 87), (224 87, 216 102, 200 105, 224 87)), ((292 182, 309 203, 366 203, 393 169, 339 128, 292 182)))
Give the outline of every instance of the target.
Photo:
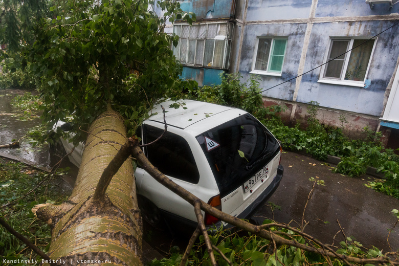
MULTIPOLYGON (((143 122, 138 135, 144 144, 158 139, 164 131, 161 105, 166 110, 167 131, 143 152, 173 182, 238 218, 246 218, 279 185, 283 174, 281 146, 252 115, 199 101, 166 101, 155 106, 151 113, 156 115, 143 122), (183 107, 175 108, 179 105, 183 107)), ((72 144, 63 144, 66 151, 71 150, 72 144)), ((135 177, 142 214, 151 225, 165 217, 196 226, 189 203, 140 166, 135 177)), ((217 218, 204 215, 208 227, 220 226, 217 218)))

